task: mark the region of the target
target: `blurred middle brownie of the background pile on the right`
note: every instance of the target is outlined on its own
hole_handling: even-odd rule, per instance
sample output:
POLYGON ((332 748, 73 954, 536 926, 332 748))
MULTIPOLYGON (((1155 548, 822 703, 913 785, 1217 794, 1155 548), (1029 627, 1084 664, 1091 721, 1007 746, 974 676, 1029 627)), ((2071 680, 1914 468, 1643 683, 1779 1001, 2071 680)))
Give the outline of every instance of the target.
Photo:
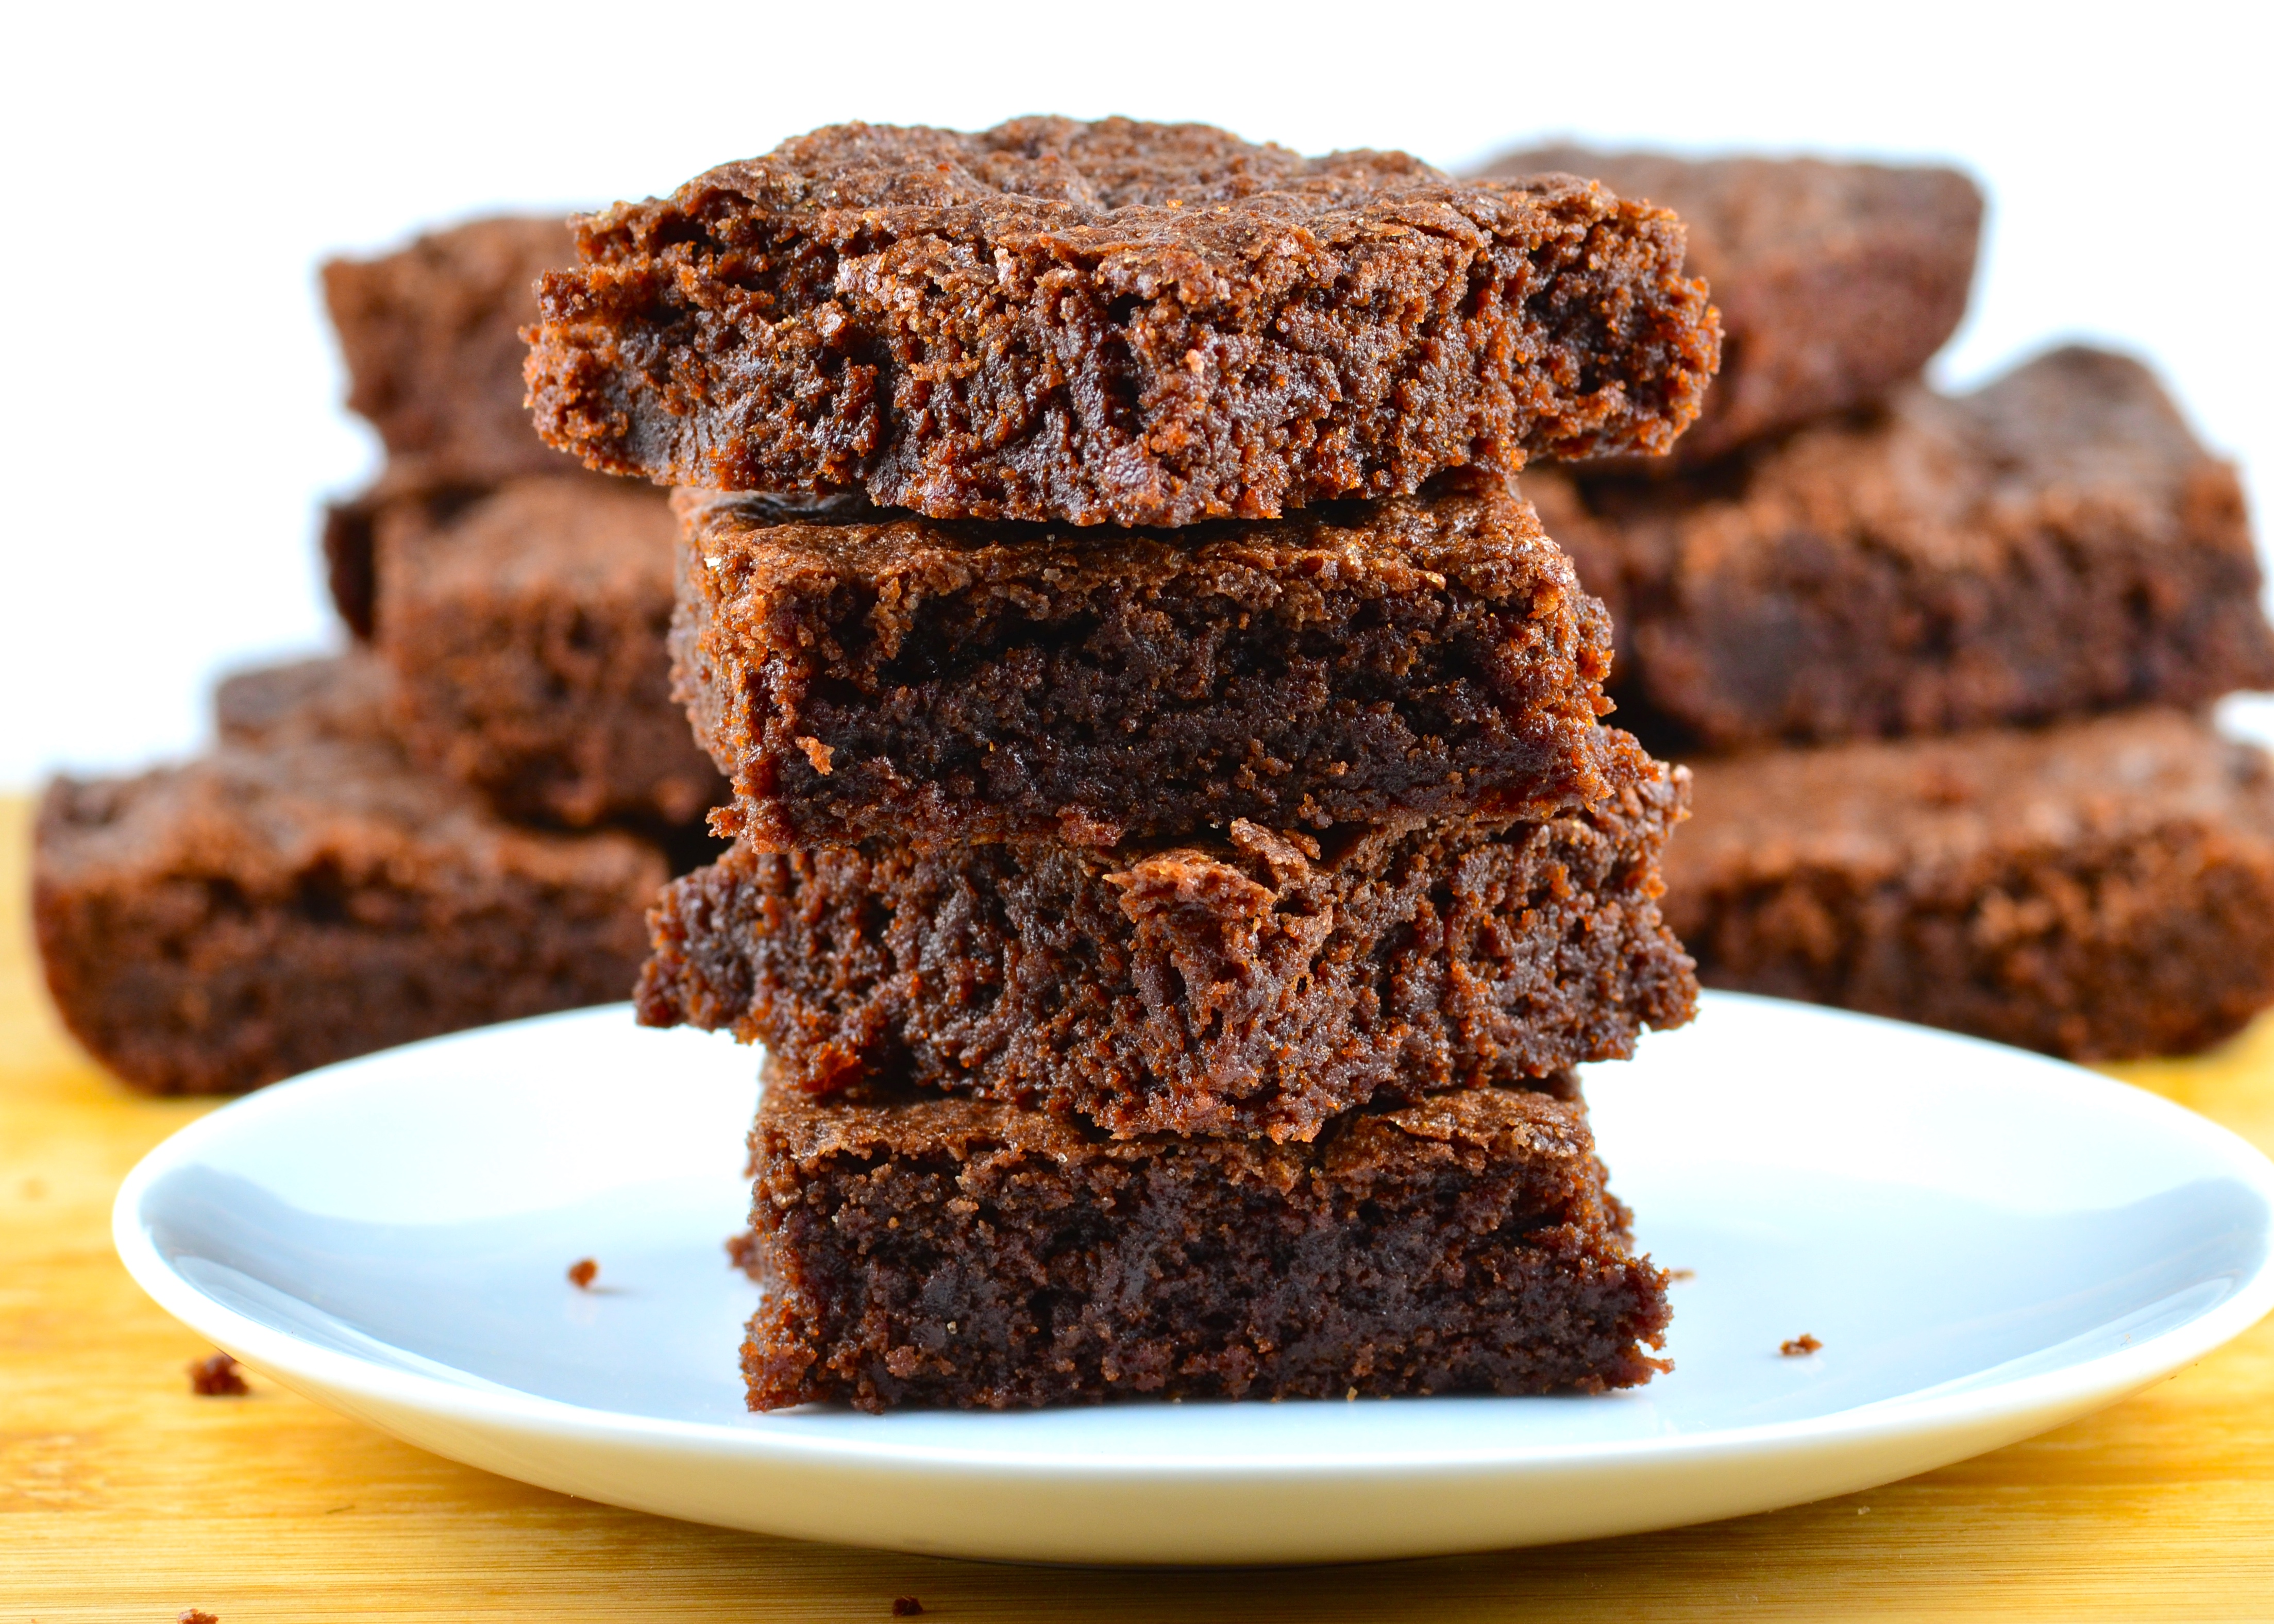
POLYGON ((2138 362, 2042 355, 1903 391, 1746 469, 1526 475, 1619 623, 1621 719, 1665 746, 1828 741, 2274 687, 2235 469, 2138 362))

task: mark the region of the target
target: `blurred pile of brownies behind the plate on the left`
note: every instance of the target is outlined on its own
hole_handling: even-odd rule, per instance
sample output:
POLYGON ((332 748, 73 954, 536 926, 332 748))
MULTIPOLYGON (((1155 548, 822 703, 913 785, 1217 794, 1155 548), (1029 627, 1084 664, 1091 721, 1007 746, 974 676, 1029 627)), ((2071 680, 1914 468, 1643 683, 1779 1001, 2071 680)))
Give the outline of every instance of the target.
POLYGON ((387 441, 325 550, 364 646, 221 687, 218 746, 50 787, 34 912, 66 1024, 125 1080, 232 1092, 623 999, 723 785, 671 701, 675 525, 548 450, 518 328, 559 221, 325 266, 387 441))

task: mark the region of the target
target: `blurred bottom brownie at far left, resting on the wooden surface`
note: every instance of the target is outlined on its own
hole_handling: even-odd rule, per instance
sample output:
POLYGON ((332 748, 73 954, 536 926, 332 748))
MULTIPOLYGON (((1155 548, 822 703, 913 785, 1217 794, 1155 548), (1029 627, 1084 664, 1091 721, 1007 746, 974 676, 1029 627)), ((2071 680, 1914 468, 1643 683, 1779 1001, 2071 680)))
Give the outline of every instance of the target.
POLYGON ((653 846, 512 828, 334 723, 271 712, 264 730, 41 801, 48 987, 111 1071, 218 1094, 625 996, 666 878, 653 846))

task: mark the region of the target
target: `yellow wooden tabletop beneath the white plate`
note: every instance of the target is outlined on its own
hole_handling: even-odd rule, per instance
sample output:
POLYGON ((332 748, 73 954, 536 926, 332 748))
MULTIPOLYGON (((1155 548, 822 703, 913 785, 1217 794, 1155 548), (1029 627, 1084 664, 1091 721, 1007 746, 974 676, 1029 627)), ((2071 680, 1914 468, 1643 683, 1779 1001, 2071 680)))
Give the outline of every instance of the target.
MULTIPOLYGON (((118 1267, 111 1194, 205 1105, 59 1033, 0 801, 0 1624, 143 1619, 2269 1619, 2274 1321, 2047 1437, 1867 1494, 1544 1551, 1308 1572, 1073 1572, 798 1544, 612 1510, 255 1383, 118 1267)), ((2274 1021, 2126 1069, 2274 1149, 2274 1021)))

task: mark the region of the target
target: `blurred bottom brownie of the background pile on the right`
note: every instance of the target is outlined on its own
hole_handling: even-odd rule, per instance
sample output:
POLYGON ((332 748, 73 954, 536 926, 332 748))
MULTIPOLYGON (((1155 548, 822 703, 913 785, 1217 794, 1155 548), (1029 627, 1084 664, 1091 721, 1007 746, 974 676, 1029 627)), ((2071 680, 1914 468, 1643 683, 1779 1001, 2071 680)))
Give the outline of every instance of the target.
POLYGON ((1696 762, 1667 921, 1712 987, 2074 1060, 2274 1003, 2274 767, 2178 712, 1696 762))

